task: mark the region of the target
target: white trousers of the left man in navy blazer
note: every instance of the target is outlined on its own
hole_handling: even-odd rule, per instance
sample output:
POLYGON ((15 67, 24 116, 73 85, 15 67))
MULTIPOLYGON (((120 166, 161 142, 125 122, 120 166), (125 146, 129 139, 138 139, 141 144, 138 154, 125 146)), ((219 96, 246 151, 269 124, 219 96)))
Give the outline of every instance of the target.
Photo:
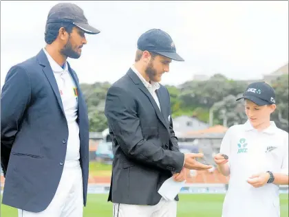
POLYGON ((61 181, 43 212, 18 209, 19 217, 83 217, 83 176, 79 161, 65 161, 61 181))

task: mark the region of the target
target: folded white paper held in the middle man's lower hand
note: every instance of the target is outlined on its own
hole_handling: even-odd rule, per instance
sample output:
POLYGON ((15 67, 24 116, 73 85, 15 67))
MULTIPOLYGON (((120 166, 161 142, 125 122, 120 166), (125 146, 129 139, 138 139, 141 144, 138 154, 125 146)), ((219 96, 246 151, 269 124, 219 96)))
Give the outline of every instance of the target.
POLYGON ((164 181, 160 189, 158 190, 158 194, 160 194, 165 200, 173 201, 175 196, 180 192, 181 188, 184 187, 186 181, 178 182, 174 181, 173 177, 164 181))

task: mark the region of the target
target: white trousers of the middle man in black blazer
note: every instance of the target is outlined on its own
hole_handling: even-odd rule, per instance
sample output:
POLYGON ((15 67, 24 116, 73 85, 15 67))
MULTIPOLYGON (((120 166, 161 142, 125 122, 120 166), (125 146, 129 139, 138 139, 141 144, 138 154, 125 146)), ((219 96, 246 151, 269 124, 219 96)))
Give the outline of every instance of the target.
POLYGON ((114 203, 113 217, 176 217, 177 201, 160 199, 157 205, 114 203))

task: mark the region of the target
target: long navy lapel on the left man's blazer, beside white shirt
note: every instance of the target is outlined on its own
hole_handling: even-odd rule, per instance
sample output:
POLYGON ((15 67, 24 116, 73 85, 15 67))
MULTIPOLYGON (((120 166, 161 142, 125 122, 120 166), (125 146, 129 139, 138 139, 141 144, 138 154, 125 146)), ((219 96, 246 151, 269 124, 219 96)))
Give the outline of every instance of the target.
POLYGON ((45 73, 47 80, 50 82, 50 85, 54 91, 56 98, 57 98, 58 104, 61 107, 61 111, 63 112, 63 115, 65 115, 62 100, 61 100, 61 95, 59 93, 59 89, 58 89, 58 85, 57 85, 55 77, 54 77, 54 73, 50 67, 50 63, 47 59, 47 56, 45 55, 45 53, 43 52, 42 49, 39 52, 39 54, 37 54, 37 58, 39 60, 39 65, 43 66, 42 70, 45 73))

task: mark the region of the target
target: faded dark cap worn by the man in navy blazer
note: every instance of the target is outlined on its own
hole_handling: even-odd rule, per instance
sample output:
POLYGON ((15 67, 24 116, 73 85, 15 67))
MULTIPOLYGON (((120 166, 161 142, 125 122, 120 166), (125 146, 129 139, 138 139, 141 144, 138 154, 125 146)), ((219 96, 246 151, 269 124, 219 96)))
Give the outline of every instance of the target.
POLYGON ((83 10, 74 3, 58 3, 50 9, 46 23, 59 22, 72 23, 87 34, 100 33, 99 30, 88 24, 83 10))

